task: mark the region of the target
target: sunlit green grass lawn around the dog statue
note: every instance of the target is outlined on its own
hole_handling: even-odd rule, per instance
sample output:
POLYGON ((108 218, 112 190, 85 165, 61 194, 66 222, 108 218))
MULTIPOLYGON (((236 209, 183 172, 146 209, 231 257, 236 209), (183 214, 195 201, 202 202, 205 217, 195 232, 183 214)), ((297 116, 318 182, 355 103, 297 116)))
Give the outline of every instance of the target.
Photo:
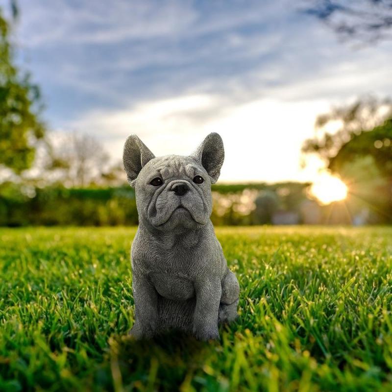
POLYGON ((135 228, 0 229, 0 391, 391 391, 392 228, 219 228, 221 341, 126 337, 135 228))

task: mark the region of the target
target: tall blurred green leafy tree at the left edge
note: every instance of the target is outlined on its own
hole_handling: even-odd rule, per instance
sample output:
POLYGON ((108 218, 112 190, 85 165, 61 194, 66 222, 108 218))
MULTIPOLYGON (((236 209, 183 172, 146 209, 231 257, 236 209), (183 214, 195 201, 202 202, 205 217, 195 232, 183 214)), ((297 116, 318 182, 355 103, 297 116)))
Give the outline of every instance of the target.
POLYGON ((13 64, 9 30, 0 10, 0 165, 19 174, 31 167, 45 126, 39 88, 13 64))

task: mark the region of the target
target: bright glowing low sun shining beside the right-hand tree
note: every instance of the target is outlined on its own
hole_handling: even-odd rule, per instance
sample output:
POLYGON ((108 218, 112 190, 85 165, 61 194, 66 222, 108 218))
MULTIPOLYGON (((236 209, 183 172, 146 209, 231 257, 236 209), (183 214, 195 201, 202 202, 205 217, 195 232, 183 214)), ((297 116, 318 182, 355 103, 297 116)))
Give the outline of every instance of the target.
POLYGON ((348 188, 344 182, 331 174, 323 173, 313 183, 310 193, 317 197, 322 204, 344 200, 347 197, 348 188))

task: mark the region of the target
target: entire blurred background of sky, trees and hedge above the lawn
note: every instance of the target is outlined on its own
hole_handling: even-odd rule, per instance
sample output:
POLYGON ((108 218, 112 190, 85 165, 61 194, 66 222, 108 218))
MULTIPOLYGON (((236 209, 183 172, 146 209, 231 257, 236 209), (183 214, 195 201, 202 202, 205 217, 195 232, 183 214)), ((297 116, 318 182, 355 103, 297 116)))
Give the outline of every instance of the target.
POLYGON ((392 222, 392 1, 0 1, 0 225, 137 223, 219 132, 215 224, 392 222))

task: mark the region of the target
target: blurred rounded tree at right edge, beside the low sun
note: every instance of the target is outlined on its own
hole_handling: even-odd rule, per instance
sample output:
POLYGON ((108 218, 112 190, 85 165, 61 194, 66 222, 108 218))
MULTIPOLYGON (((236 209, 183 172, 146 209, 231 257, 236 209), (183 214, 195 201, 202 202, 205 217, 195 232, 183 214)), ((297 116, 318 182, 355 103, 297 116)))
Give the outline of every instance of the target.
POLYGON ((319 116, 319 131, 303 145, 304 153, 316 153, 326 167, 338 173, 349 187, 348 207, 353 215, 364 208, 369 221, 392 221, 392 104, 388 100, 362 100, 319 116), (336 133, 323 128, 333 121, 336 133), (321 134, 320 134, 321 131, 321 134))

